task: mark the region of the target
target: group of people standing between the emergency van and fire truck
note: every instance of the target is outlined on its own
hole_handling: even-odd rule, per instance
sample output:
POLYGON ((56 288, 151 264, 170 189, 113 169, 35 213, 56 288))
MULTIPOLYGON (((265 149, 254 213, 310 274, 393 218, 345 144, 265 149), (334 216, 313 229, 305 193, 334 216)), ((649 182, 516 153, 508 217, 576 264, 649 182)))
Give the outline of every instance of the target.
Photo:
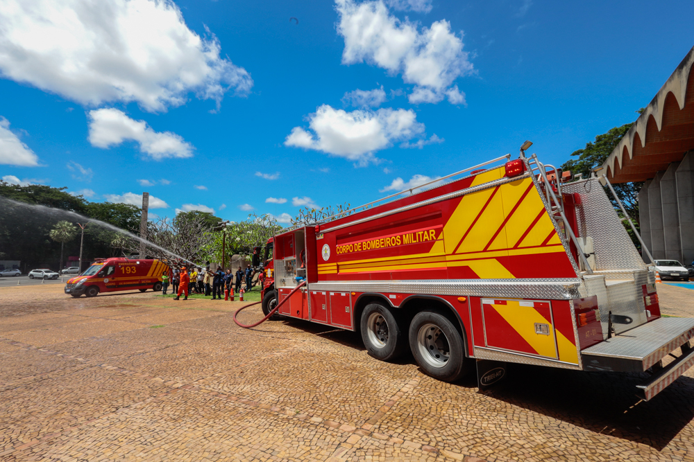
MULTIPOLYGON (((188 294, 205 294, 210 296, 212 300, 221 300, 223 290, 234 291, 237 294, 241 291, 241 286, 246 280, 246 292, 253 288, 253 275, 255 272, 251 265, 246 269, 239 266, 235 274, 231 273, 230 269, 224 272, 221 267, 217 271, 212 271, 210 267, 180 267, 174 268, 174 276, 171 278, 171 283, 174 286, 173 292, 176 294, 174 300, 179 300, 181 294, 185 294, 184 300, 188 299, 188 294), (234 284, 235 282, 235 284, 234 284)), ((169 289, 169 276, 162 276, 162 293, 167 294, 169 289)))

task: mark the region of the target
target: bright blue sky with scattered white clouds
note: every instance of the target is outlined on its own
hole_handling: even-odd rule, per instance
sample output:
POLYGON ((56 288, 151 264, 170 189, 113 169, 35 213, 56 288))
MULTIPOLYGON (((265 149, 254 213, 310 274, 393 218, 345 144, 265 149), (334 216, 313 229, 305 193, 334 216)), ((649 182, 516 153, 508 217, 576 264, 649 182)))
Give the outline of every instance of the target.
POLYGON ((694 45, 691 1, 3 3, 0 177, 160 217, 286 221, 525 139, 559 165, 694 45))

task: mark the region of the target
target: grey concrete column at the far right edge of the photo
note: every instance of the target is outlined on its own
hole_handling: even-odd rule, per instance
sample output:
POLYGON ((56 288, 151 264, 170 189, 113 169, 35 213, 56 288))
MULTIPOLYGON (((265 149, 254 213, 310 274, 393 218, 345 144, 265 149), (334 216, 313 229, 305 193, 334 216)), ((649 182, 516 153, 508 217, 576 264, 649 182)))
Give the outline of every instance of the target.
POLYGON ((694 152, 684 155, 675 172, 677 179, 677 213, 682 264, 694 261, 694 152))

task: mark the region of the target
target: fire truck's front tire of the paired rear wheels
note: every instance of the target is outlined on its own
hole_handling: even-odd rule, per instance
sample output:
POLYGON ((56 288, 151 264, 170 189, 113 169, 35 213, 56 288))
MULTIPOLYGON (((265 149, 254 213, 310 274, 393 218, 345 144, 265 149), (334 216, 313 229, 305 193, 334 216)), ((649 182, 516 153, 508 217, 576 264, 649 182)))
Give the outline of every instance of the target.
POLYGON ((369 355, 381 361, 391 361, 403 355, 407 338, 391 310, 380 303, 369 303, 359 324, 369 355))

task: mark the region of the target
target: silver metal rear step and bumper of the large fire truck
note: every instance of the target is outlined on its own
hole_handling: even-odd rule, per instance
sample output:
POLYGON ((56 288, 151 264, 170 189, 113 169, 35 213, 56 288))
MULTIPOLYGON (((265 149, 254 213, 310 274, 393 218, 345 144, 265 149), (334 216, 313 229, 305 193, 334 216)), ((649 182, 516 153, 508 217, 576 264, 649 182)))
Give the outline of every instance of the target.
POLYGON ((637 385, 638 395, 650 400, 694 366, 694 349, 688 343, 693 337, 694 319, 656 319, 583 350, 583 368, 585 371, 643 372, 655 366, 649 380, 637 385), (678 348, 682 354, 679 357, 673 354, 675 361, 661 367, 661 359, 678 348))

